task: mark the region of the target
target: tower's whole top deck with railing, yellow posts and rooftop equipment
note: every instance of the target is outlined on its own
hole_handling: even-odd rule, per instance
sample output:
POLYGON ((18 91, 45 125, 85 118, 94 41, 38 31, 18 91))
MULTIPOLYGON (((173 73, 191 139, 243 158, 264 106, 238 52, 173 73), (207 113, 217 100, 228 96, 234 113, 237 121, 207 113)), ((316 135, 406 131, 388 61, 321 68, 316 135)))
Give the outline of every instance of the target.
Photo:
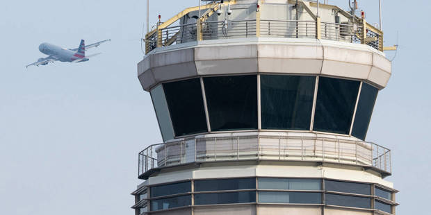
POLYGON ((146 53, 164 46, 193 46, 233 38, 315 38, 364 44, 383 51, 383 32, 337 6, 315 2, 230 1, 187 8, 145 36, 146 53), (231 14, 227 15, 228 8, 231 14), (217 11, 222 14, 218 15, 217 11), (199 15, 201 15, 199 17, 199 15))

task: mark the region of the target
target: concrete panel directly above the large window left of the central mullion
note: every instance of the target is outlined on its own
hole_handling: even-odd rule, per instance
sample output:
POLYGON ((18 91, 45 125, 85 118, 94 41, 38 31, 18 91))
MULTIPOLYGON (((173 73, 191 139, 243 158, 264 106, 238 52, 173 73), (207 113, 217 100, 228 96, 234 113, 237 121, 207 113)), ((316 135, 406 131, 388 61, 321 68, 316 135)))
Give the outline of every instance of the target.
POLYGON ((257 58, 196 61, 200 76, 257 73, 257 58))

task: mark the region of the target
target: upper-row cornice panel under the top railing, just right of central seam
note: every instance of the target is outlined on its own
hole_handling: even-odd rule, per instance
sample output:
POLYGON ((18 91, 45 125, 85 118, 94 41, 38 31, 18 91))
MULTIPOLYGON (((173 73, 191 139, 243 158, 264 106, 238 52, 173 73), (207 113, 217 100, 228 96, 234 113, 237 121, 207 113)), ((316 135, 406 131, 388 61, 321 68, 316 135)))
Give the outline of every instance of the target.
MULTIPOLYGON (((323 59, 322 46, 259 44, 259 58, 323 59)), ((371 62, 371 59, 370 59, 371 62)))

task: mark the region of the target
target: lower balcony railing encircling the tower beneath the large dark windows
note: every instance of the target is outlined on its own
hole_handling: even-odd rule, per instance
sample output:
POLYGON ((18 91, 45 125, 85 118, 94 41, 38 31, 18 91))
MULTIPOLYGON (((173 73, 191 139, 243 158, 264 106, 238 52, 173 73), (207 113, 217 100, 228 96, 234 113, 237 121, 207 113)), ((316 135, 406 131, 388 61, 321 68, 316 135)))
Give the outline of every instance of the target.
POLYGON ((154 144, 139 153, 138 175, 158 167, 235 160, 351 164, 391 173, 391 150, 377 144, 324 137, 238 136, 154 144))

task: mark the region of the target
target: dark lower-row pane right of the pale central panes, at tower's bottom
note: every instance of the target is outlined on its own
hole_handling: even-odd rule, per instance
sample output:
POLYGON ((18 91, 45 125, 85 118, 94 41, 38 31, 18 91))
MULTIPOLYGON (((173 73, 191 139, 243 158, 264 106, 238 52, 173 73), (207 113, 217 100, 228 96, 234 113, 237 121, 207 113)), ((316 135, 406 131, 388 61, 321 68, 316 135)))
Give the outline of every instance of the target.
POLYGON ((338 205, 343 207, 371 208, 371 198, 359 196, 345 196, 325 194, 326 205, 338 205))

